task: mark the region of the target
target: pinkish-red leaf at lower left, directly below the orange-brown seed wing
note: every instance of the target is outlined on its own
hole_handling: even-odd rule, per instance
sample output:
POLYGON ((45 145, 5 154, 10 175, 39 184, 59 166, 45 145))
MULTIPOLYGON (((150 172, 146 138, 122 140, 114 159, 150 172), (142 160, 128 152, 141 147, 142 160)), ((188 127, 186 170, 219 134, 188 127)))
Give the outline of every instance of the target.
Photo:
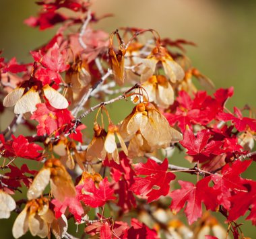
POLYGON ((65 214, 67 207, 69 207, 69 212, 73 214, 75 220, 77 222, 81 221, 82 215, 84 213, 84 209, 80 203, 79 197, 79 187, 75 187, 77 194, 75 197, 65 197, 64 201, 59 201, 57 199, 53 199, 51 203, 55 205, 55 217, 60 218, 61 214, 65 214))

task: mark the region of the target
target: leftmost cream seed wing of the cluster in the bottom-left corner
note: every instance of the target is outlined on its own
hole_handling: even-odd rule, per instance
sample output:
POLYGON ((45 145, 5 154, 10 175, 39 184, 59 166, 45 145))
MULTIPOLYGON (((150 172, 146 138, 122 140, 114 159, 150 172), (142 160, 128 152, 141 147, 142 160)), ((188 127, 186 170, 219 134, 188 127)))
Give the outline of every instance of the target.
POLYGON ((15 219, 12 227, 12 234, 14 238, 20 238, 28 232, 28 207, 26 206, 22 212, 15 219))

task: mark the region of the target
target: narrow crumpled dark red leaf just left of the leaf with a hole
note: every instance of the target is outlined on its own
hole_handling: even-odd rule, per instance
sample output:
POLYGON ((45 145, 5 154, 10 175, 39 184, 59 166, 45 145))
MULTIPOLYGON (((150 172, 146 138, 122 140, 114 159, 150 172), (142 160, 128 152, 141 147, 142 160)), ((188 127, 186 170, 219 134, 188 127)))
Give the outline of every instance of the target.
POLYGON ((115 181, 111 187, 115 189, 115 194, 119 195, 117 205, 119 205, 124 212, 127 212, 131 207, 136 207, 135 197, 133 193, 129 191, 129 187, 134 183, 133 177, 136 176, 136 174, 131 168, 129 158, 127 158, 123 151, 119 152, 119 158, 119 164, 114 160, 104 160, 104 165, 110 168, 111 177, 115 181))

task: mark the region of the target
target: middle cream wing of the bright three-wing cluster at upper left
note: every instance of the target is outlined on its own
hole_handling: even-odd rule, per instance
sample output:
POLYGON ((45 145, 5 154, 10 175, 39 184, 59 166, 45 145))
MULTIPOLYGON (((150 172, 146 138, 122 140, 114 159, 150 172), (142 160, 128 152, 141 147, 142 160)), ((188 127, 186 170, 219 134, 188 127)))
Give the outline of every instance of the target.
POLYGON ((14 113, 34 112, 36 104, 41 103, 40 96, 36 89, 32 87, 25 95, 23 95, 15 104, 14 113))

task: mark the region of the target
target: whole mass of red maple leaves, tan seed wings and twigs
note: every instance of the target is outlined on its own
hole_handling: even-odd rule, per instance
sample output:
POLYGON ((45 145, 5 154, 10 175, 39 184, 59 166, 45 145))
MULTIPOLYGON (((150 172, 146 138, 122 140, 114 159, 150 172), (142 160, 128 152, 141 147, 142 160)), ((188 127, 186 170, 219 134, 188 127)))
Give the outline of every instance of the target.
POLYGON ((58 26, 55 36, 30 63, 0 58, 1 112, 15 113, 0 135, 0 218, 16 213, 14 238, 73 238, 71 224, 90 238, 244 237, 236 220, 256 225, 256 182, 241 176, 255 163, 256 120, 248 105, 227 109, 233 89, 214 89, 193 66, 185 46, 195 44, 96 30, 109 15, 90 1, 37 4, 24 23, 58 26), (108 105, 125 100, 131 113, 113 122, 108 105), (20 125, 28 136, 15 134, 20 125))

